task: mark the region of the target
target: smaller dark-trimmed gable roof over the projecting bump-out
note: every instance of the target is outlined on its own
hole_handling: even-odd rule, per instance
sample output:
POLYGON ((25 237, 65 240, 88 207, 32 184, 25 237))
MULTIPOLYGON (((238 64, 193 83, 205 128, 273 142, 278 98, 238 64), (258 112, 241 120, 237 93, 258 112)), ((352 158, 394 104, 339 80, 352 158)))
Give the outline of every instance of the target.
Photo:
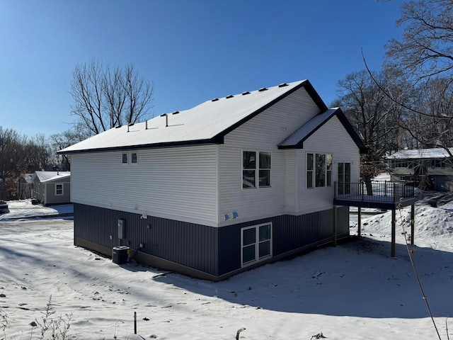
POLYGON ((340 108, 329 108, 324 113, 315 115, 311 120, 306 122, 302 127, 297 129, 292 135, 287 137, 286 140, 278 145, 279 149, 302 149, 304 147, 304 141, 316 132, 321 126, 331 120, 333 116, 336 116, 340 123, 343 125, 345 130, 348 132, 352 140, 355 142, 357 147, 360 149, 361 154, 367 153, 367 148, 362 142, 362 139, 357 135, 357 132, 352 128, 348 119, 345 117, 343 111, 340 108))

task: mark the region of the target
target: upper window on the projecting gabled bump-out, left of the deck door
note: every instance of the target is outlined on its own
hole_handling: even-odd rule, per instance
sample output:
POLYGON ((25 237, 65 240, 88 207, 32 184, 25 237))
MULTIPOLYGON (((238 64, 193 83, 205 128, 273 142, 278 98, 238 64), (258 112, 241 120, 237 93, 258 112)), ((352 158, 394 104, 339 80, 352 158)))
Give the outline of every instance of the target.
POLYGON ((332 186, 332 155, 306 154, 306 187, 332 186))

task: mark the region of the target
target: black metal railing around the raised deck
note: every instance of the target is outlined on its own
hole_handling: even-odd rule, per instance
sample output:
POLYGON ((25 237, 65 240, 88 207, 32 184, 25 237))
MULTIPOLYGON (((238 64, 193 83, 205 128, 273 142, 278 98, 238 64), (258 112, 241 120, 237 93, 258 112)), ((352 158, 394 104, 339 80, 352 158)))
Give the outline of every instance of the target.
POLYGON ((398 202, 401 198, 414 197, 414 193, 414 186, 404 182, 335 182, 335 198, 340 200, 398 202))

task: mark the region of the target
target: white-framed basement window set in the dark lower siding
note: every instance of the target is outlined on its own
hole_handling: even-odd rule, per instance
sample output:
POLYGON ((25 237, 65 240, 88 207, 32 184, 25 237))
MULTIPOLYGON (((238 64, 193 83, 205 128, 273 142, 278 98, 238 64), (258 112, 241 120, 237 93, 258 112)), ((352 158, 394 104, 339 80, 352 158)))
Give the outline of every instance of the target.
POLYGON ((243 266, 272 256, 272 223, 241 230, 241 263, 243 266))

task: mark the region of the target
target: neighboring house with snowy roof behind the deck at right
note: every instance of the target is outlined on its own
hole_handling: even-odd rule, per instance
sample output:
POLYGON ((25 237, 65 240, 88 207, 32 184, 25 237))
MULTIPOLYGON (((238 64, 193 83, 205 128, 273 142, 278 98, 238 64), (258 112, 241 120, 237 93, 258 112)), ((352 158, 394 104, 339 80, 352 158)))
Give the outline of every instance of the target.
MULTIPOLYGON (((453 148, 449 149, 453 153, 453 148)), ((391 181, 410 181, 435 191, 453 190, 453 159, 444 148, 406 149, 386 157, 391 181)))

